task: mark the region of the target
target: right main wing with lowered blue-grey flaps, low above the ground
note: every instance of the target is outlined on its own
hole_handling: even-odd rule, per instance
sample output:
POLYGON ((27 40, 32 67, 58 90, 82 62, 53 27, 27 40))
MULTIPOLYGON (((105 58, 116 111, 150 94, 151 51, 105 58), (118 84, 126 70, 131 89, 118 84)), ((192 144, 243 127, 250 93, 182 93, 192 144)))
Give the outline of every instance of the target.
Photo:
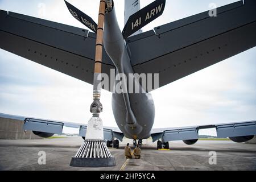
POLYGON ((206 126, 188 126, 166 129, 152 129, 153 142, 161 139, 162 142, 173 140, 197 140, 199 130, 215 128, 218 138, 247 137, 256 135, 256 121, 222 123, 206 126))

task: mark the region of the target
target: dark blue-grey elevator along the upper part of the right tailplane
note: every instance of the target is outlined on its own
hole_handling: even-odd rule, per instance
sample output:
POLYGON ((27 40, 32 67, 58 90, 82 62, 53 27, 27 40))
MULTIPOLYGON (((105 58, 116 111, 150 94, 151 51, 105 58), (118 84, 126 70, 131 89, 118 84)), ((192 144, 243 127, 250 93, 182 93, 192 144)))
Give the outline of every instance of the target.
MULTIPOLYGON (((218 8, 218 10, 219 9, 220 8, 218 8)), ((205 12, 205 14, 208 14, 208 11, 205 12)), ((197 17, 198 15, 194 15, 178 20, 178 22, 184 22, 188 19, 189 22, 189 19, 193 19, 193 23, 178 26, 178 28, 174 28, 176 27, 174 26, 174 24, 176 24, 174 22, 159 26, 156 28, 156 30, 159 28, 159 36, 153 35, 128 44, 133 53, 131 63, 133 66, 142 64, 144 61, 150 61, 156 57, 166 55, 167 53, 191 46, 192 44, 212 38, 213 36, 223 34, 234 28, 244 26, 256 20, 255 14, 254 7, 243 5, 236 9, 225 11, 225 13, 214 18, 208 16, 203 19, 201 19, 201 17, 195 19, 193 17, 197 17), (160 31, 162 28, 164 30, 160 31)), ((143 34, 141 36, 143 36, 143 34)))

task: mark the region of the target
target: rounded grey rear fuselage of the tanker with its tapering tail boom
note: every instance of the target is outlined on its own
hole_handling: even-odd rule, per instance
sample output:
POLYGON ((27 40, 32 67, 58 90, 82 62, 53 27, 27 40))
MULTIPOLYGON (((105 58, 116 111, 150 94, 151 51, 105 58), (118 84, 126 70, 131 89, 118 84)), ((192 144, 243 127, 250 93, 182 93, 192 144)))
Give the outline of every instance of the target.
MULTIPOLYGON (((134 74, 125 41, 117 23, 115 10, 105 14, 104 48, 116 67, 116 74, 123 73, 129 78, 134 74)), ((115 85, 119 81, 115 82, 115 85)), ((146 139, 154 124, 155 106, 151 94, 142 92, 143 88, 137 79, 133 88, 139 88, 139 93, 113 93, 112 109, 115 121, 125 137, 130 139, 146 139)), ((129 82, 122 85, 122 90, 129 88, 129 82)), ((131 85, 130 85, 131 86, 131 85)), ((129 90, 129 89, 127 89, 129 90)))

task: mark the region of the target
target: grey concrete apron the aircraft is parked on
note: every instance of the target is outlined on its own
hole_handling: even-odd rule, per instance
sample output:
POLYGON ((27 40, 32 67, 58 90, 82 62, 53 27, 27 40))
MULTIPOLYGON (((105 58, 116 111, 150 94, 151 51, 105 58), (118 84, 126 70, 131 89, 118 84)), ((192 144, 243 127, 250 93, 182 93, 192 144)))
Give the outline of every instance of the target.
POLYGON ((183 142, 170 142, 170 151, 156 150, 156 143, 143 140, 142 158, 125 159, 119 149, 110 149, 117 166, 109 168, 70 167, 71 157, 76 154, 83 140, 80 137, 43 140, 0 140, 1 170, 256 170, 256 144, 231 141, 199 141, 193 146, 183 142), (46 165, 39 165, 39 151, 46 152, 46 165), (209 164, 209 152, 217 152, 217 164, 209 164))

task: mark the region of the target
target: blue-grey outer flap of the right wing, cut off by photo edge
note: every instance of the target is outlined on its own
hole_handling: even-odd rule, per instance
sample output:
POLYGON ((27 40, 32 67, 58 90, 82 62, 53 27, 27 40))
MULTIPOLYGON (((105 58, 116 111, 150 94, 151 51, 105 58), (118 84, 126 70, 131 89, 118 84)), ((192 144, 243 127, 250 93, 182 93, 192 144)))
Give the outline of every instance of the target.
POLYGON ((249 135, 256 135, 256 122, 217 125, 217 136, 219 138, 249 135))

